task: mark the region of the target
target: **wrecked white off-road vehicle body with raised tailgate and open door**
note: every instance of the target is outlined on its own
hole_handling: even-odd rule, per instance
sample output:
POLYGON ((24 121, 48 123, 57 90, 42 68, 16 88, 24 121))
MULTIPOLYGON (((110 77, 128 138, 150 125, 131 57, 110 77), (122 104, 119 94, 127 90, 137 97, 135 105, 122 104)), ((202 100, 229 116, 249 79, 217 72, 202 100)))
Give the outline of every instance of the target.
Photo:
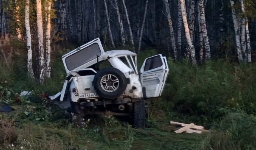
POLYGON ((97 71, 91 66, 103 61, 108 61, 112 67, 120 70, 128 79, 126 89, 117 100, 161 96, 169 74, 166 57, 161 54, 147 58, 138 71, 135 53, 128 50, 105 52, 99 38, 65 54, 62 56, 62 60, 67 79, 63 89, 58 94, 50 96, 50 99, 60 96, 60 100, 63 101, 67 97, 67 92, 70 92, 73 102, 101 100, 101 96, 97 94, 93 86, 97 71))

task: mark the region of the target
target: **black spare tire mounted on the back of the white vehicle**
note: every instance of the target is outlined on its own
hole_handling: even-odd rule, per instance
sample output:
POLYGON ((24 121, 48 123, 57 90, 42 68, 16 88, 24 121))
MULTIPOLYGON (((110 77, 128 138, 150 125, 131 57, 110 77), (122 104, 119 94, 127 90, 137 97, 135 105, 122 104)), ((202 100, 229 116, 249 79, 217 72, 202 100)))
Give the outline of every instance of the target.
POLYGON ((116 68, 103 68, 103 69, 99 70, 97 72, 97 74, 95 75, 95 77, 93 79, 93 86, 99 96, 106 98, 106 99, 116 99, 118 96, 123 94, 123 92, 125 91, 125 89, 127 87, 127 78, 125 78, 123 72, 121 72, 120 70, 118 70, 116 68), (116 84, 116 85, 114 85, 114 87, 116 89, 113 89, 112 87, 108 87, 108 89, 103 89, 102 86, 104 86, 104 85, 108 86, 107 83, 101 83, 103 79, 106 79, 105 77, 107 75, 112 75, 113 78, 118 79, 118 87, 116 87, 117 83, 114 83, 113 80, 110 81, 109 79, 107 79, 108 81, 110 81, 110 82, 108 82, 109 85, 116 84), (106 90, 110 90, 110 91, 106 91, 106 90))

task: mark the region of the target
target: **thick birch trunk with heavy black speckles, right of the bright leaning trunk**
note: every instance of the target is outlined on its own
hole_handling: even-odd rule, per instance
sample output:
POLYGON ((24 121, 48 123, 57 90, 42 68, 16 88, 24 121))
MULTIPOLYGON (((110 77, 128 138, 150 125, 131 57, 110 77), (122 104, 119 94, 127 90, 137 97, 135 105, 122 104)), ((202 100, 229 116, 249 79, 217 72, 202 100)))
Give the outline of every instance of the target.
POLYGON ((210 50, 210 43, 209 43, 209 37, 206 29, 206 19, 205 19, 205 13, 204 13, 204 0, 199 0, 199 14, 200 14, 200 22, 199 26, 202 28, 202 36, 204 41, 204 54, 205 59, 211 58, 211 50, 210 50))

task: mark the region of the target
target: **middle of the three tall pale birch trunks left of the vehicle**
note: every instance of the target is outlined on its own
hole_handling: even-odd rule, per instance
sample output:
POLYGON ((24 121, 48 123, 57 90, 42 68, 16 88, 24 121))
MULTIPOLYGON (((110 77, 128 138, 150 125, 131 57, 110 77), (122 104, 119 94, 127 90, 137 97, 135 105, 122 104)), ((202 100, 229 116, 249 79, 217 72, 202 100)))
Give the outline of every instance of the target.
POLYGON ((42 4, 41 0, 37 0, 37 36, 38 36, 38 48, 39 48, 39 82, 44 82, 45 74, 45 59, 44 59, 44 42, 43 42, 43 19, 42 19, 42 4))

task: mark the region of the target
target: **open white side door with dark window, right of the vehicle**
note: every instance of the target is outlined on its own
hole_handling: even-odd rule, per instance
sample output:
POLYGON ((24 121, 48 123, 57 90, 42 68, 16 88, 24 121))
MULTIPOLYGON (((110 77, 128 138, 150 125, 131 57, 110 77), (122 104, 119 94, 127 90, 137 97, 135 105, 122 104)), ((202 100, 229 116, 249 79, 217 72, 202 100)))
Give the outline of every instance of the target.
POLYGON ((155 55, 147 58, 140 69, 140 82, 144 98, 161 96, 169 74, 166 57, 155 55))

